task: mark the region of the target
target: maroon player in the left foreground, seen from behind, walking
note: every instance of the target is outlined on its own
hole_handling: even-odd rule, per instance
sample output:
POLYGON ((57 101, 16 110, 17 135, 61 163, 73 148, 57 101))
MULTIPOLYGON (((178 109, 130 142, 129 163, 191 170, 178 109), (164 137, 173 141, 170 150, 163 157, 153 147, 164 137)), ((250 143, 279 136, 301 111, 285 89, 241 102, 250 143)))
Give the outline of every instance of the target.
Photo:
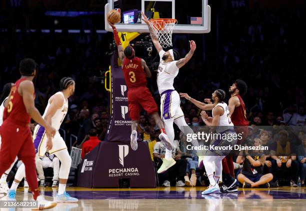
POLYGON ((38 209, 48 209, 56 206, 56 202, 45 201, 39 195, 36 170, 35 149, 28 124, 32 118, 46 130, 48 139, 55 134, 40 115, 34 105, 33 78, 36 73, 36 63, 32 59, 23 59, 19 64, 21 78, 11 87, 8 103, 3 113, 3 124, 0 127, 2 138, 0 149, 0 175, 10 166, 15 157, 25 165, 25 175, 31 188, 33 199, 38 200, 38 209))

